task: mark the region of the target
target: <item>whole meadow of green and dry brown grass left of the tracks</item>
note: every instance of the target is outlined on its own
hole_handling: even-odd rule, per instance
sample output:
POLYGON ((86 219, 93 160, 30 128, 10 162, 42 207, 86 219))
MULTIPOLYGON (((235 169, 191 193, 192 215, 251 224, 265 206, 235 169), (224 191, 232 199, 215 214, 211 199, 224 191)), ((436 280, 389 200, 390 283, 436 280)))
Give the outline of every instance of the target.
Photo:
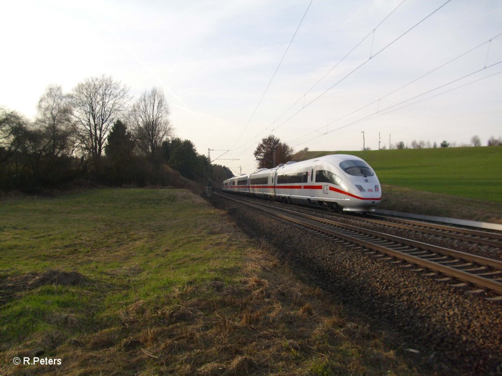
POLYGON ((3 375, 423 374, 185 191, 3 202, 0 234, 3 375))

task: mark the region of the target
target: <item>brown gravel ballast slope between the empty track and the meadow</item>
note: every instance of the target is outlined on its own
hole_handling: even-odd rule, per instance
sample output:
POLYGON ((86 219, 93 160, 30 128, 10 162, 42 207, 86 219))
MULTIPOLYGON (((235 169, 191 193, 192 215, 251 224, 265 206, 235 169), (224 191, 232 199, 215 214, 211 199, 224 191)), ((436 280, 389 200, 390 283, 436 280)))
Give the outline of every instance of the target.
POLYGON ((296 273, 363 315, 375 328, 398 333, 402 348, 418 349, 414 356, 433 372, 501 372, 501 304, 225 199, 218 199, 217 205, 226 208, 249 236, 273 245, 277 256, 296 273))

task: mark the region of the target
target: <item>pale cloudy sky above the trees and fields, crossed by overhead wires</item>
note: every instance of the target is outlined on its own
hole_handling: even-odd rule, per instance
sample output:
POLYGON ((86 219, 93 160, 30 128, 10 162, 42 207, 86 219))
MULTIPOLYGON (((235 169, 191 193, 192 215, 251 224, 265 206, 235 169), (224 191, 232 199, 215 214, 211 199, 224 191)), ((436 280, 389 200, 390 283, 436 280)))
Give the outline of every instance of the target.
POLYGON ((0 106, 33 119, 48 85, 101 75, 132 102, 159 87, 175 135, 234 173, 270 134, 295 151, 485 145, 501 33, 498 0, 2 0, 0 106))

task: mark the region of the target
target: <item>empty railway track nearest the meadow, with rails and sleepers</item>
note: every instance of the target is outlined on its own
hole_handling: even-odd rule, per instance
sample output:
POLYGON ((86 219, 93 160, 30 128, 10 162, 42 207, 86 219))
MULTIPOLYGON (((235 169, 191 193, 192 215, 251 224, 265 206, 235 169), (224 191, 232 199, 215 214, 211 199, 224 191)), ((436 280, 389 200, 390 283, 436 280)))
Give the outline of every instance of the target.
MULTIPOLYGON (((266 203, 257 203, 241 197, 216 195, 292 222, 311 232, 355 245, 368 256, 387 260, 401 267, 414 268, 415 266, 414 271, 423 272, 424 275, 435 277, 438 281, 448 282, 451 286, 464 288, 475 286, 476 288, 467 290, 469 293, 489 291, 487 300, 502 300, 501 261, 278 208, 266 203)), ((378 221, 387 223, 387 221, 378 221)), ((411 226, 411 224, 398 225, 411 226)), ((417 231, 413 226, 407 229, 417 231)), ((471 238, 473 235, 466 236, 471 242, 476 239, 471 238)), ((486 240, 485 237, 483 235, 483 241, 486 240)))

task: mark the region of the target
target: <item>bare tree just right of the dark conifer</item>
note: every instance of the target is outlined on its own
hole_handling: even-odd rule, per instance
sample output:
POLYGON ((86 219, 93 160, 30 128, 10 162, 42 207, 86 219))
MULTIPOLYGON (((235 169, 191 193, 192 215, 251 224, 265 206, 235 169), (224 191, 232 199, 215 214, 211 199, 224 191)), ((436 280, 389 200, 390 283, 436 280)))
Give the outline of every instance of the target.
POLYGON ((152 159, 161 151, 162 142, 173 134, 169 122, 169 106, 160 88, 145 91, 133 105, 130 123, 138 149, 152 159))

